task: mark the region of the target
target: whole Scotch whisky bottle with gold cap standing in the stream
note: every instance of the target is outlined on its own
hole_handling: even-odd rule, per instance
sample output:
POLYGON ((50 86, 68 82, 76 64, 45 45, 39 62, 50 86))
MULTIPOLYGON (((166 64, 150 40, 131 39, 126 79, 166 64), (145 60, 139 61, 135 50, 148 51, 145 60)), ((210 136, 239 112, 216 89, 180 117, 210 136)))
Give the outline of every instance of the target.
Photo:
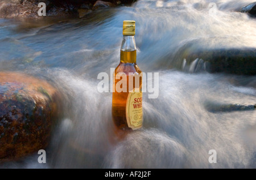
POLYGON ((113 75, 112 118, 120 130, 142 127, 142 71, 136 63, 135 21, 123 21, 120 63, 113 75), (122 80, 122 83, 120 81, 122 80), (126 82, 125 82, 126 81, 126 82), (120 91, 122 88, 122 91, 120 91))

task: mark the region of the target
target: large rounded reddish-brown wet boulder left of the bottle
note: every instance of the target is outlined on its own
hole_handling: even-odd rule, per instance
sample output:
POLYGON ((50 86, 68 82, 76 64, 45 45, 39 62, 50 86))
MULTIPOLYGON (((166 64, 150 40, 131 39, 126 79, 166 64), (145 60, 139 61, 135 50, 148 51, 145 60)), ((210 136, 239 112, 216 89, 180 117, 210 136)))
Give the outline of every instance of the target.
POLYGON ((44 80, 0 72, 0 162, 45 149, 59 112, 59 93, 44 80))

